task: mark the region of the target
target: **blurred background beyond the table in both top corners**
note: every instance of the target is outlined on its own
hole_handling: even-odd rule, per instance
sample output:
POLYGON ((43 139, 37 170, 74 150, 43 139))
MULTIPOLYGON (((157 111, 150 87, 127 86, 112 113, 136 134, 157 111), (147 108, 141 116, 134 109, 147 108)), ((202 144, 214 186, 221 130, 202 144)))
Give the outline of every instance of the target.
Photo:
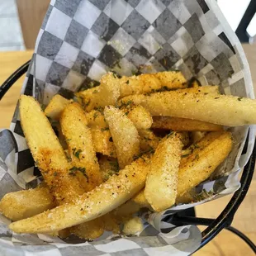
MULTIPOLYGON (((239 40, 256 42, 256 1, 218 0, 239 40)), ((33 49, 50 0, 0 0, 0 51, 33 49)))

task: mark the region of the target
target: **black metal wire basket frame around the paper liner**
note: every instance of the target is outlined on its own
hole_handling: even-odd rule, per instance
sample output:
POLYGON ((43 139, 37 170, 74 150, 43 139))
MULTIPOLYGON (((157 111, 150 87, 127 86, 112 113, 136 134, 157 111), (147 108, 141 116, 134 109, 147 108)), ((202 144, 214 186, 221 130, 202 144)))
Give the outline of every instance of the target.
MULTIPOLYGON (((21 75, 26 73, 30 62, 31 61, 27 61, 26 64, 23 64, 19 69, 12 73, 12 75, 7 78, 4 83, 2 83, 2 86, 0 87, 0 100, 9 90, 9 88, 11 88, 14 83, 16 83, 17 79, 21 78, 21 75)), ((236 230, 234 227, 230 226, 235 216, 235 212, 238 210, 240 204, 246 196, 246 193, 249 190, 249 185, 254 175, 255 159, 256 143, 254 143, 254 149, 250 155, 248 163, 244 166, 243 173, 240 178, 241 187, 234 193, 229 203, 225 206, 225 209, 216 219, 197 218, 195 216, 194 209, 187 209, 185 211, 180 211, 171 217, 168 217, 168 220, 165 221, 169 221, 173 225, 206 225, 206 229, 201 232, 201 244, 197 250, 201 249, 204 245, 210 242, 211 239, 218 235, 221 230, 227 229, 236 235, 239 235, 241 239, 244 239, 244 241, 249 244, 249 247, 253 249, 254 253, 256 254, 255 244, 239 230, 236 230)))

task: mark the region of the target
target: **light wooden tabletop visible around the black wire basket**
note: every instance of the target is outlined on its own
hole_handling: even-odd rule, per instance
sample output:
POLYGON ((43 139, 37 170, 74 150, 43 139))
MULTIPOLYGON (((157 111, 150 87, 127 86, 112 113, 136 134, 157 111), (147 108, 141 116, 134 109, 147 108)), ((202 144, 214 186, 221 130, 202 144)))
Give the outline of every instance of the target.
MULTIPOLYGON (((256 92, 256 45, 243 45, 245 55, 247 55, 249 66, 254 82, 254 91, 256 92)), ((0 53, 0 84, 8 78, 10 74, 31 58, 32 51, 20 52, 2 52, 0 53)), ((7 128, 12 120, 13 111, 17 105, 21 85, 24 76, 7 92, 0 102, 0 127, 7 128)), ((231 196, 220 198, 217 201, 211 201, 204 205, 197 206, 197 216, 215 218, 224 209, 231 196)), ((233 226, 248 235, 256 243, 256 175, 249 188, 247 197, 244 199, 239 210, 235 214, 233 226)), ((197 256, 216 256, 216 255, 254 255, 249 246, 230 231, 223 230, 220 235, 211 240, 209 244, 194 255, 197 256)))

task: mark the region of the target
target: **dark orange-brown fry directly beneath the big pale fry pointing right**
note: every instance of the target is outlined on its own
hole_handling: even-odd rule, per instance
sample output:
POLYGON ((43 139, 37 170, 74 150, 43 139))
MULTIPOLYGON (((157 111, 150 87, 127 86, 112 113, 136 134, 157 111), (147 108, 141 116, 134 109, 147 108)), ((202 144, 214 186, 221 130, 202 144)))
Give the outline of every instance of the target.
POLYGON ((152 128, 164 130, 187 130, 187 131, 214 131, 222 130, 222 126, 211 124, 206 121, 197 121, 187 118, 171 116, 153 116, 152 128))

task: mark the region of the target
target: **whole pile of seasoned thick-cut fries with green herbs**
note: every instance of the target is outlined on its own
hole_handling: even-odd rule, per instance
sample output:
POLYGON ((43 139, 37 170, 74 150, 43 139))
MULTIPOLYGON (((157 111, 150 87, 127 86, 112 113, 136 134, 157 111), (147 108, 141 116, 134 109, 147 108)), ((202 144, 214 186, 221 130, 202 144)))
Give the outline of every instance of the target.
POLYGON ((17 233, 95 239, 105 230, 133 235, 138 211, 196 201, 232 149, 223 126, 256 123, 256 101, 187 88, 176 71, 117 77, 74 100, 55 95, 42 111, 21 96, 21 126, 44 182, 12 192, 0 211, 17 233))

